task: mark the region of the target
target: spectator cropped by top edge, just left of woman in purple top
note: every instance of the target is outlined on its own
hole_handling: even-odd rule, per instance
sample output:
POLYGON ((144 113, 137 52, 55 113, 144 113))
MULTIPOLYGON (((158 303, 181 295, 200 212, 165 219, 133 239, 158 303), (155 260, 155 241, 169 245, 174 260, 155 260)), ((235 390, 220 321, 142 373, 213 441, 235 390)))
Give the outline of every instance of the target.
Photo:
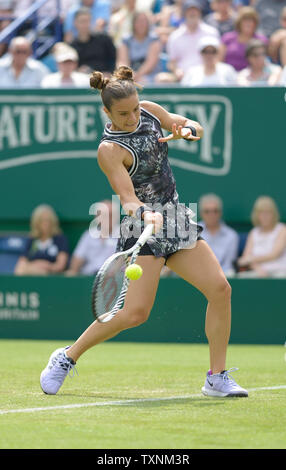
POLYGON ((204 17, 204 21, 216 28, 220 35, 234 30, 236 13, 231 0, 211 0, 212 13, 204 17))

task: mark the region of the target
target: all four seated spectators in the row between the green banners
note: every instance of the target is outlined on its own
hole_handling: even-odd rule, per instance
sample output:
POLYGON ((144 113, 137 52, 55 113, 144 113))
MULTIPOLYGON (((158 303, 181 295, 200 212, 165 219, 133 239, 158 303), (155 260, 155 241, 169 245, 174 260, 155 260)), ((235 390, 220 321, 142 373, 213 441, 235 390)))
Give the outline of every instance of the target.
MULTIPOLYGON (((115 253, 120 227, 119 213, 112 201, 104 200, 95 206, 94 219, 72 252, 54 209, 48 205, 36 207, 31 215, 30 235, 14 273, 95 275, 115 253)), ((223 202, 218 195, 202 195, 198 209, 203 239, 227 277, 286 277, 286 224, 280 221, 273 198, 257 198, 250 214, 252 228, 246 233, 225 223, 223 202)), ((161 276, 174 274, 164 267, 161 276)))

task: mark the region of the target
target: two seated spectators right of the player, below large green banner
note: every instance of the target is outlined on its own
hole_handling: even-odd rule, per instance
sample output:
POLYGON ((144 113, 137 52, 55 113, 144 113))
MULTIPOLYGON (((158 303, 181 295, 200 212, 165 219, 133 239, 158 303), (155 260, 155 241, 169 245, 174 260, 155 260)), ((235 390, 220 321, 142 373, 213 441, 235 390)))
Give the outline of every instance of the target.
POLYGON ((252 229, 238 233, 223 220, 223 203, 216 194, 199 202, 203 238, 226 276, 286 277, 286 224, 273 198, 260 196, 250 215, 252 229))

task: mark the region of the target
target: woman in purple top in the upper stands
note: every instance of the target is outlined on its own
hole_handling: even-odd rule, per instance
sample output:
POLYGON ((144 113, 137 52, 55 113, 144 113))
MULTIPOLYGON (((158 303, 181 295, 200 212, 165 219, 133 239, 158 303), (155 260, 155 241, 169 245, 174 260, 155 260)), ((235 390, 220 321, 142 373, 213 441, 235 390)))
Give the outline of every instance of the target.
POLYGON ((235 31, 222 36, 221 60, 232 65, 237 71, 247 67, 245 51, 251 39, 260 39, 266 45, 268 40, 256 32, 259 24, 257 12, 252 7, 242 7, 235 21, 235 31))

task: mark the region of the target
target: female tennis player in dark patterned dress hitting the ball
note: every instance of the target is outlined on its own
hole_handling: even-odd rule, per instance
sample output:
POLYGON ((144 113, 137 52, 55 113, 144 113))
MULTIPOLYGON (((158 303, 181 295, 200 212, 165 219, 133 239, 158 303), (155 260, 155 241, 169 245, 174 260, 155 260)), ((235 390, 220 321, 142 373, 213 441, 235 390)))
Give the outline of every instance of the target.
MULTIPOLYGON (((160 272, 166 264, 208 300, 205 331, 210 370, 202 392, 218 397, 248 396, 230 376, 232 369, 226 370, 231 288, 212 250, 200 237, 202 228, 192 223, 190 209, 186 208, 184 224, 189 221, 188 240, 178 235, 180 230, 175 237, 156 238, 164 226, 164 217, 154 207, 179 204, 167 143, 182 138, 199 140, 203 136, 202 127, 154 102, 139 102, 137 84, 129 67, 119 67, 110 78, 93 72, 90 84, 101 91, 103 109, 110 120, 98 148, 98 163, 127 213, 121 223, 118 250, 135 244, 136 237, 131 232, 133 222, 138 219, 144 224, 154 224, 155 242, 154 238, 152 242, 147 241, 139 252, 136 262, 141 265, 143 275, 130 283, 123 308, 106 323, 95 320, 73 345, 54 351, 41 374, 42 390, 56 394, 85 351, 148 319, 160 272), (169 132, 166 137, 162 129, 169 132)), ((171 220, 170 224, 180 229, 182 221, 171 220)))

